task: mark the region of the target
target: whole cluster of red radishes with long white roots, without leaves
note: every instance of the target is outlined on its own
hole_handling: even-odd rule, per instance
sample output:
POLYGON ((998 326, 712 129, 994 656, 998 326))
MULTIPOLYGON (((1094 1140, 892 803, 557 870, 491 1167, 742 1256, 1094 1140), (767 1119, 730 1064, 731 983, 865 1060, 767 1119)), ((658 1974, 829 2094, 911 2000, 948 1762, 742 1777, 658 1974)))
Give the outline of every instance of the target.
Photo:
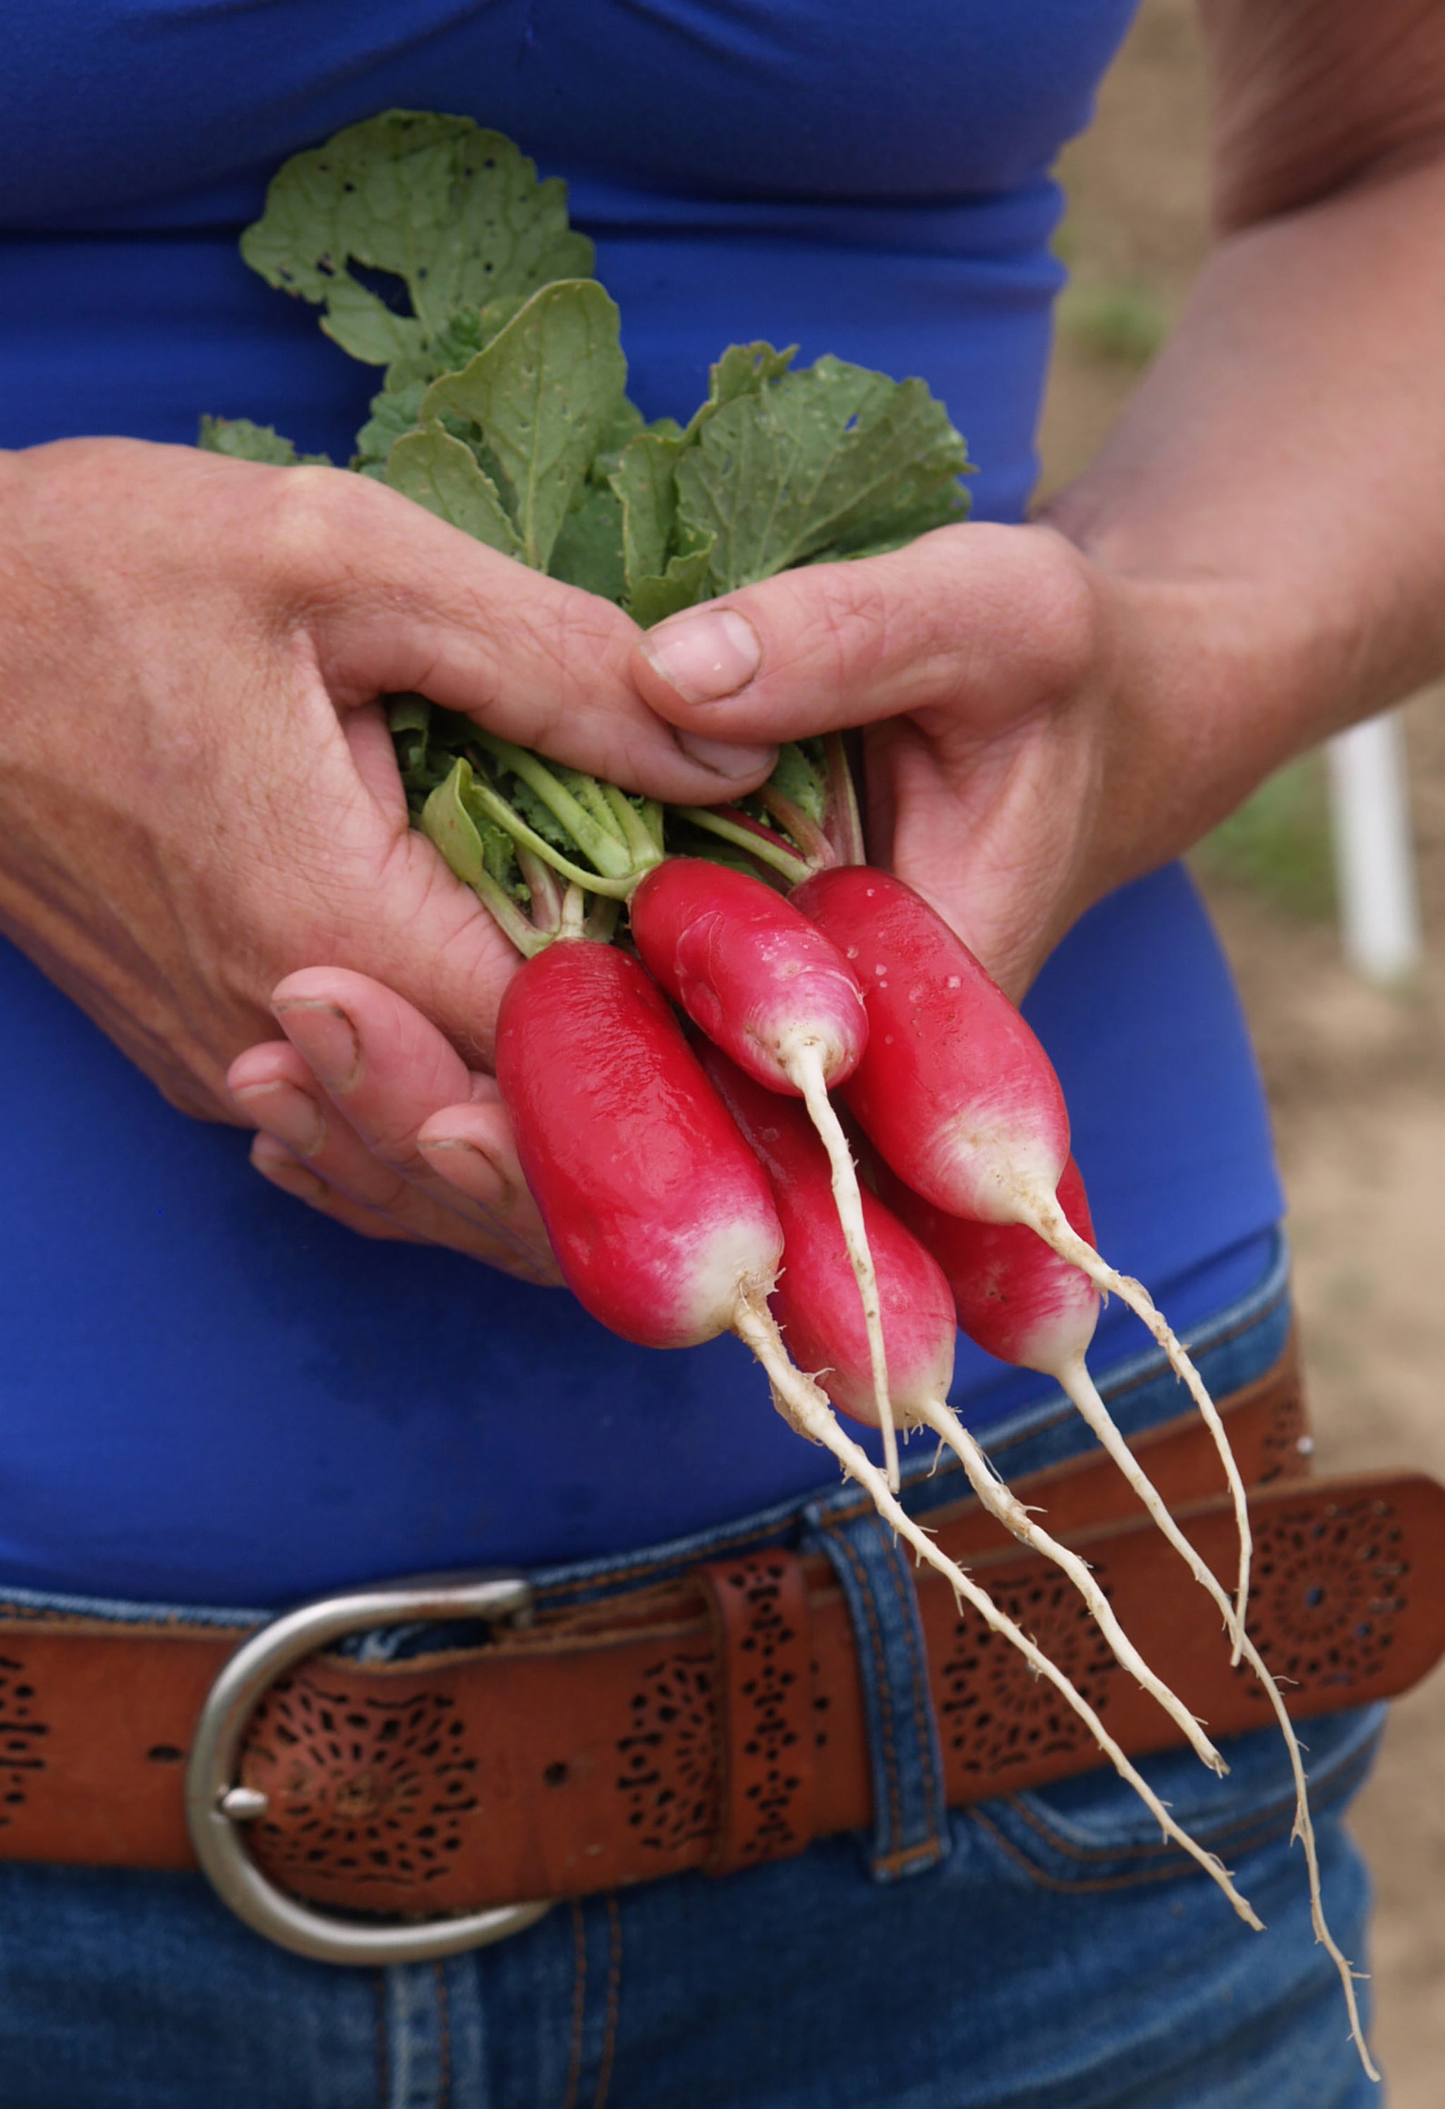
POLYGON ((897 1499, 894 1415, 935 1432, 979 1502, 1063 1569, 1116 1660, 1202 1763, 1224 1772, 1084 1561, 1034 1521, 947 1405, 958 1322, 991 1354, 1053 1375, 1215 1599, 1234 1658, 1245 1656, 1274 1706, 1314 1930, 1365 2056, 1352 1972, 1321 1907, 1299 1744, 1245 1630, 1249 1523, 1228 1436, 1148 1293, 1093 1246, 1063 1095, 1038 1040, 947 924, 867 867, 816 871, 783 898, 745 871, 667 858, 633 888, 629 911, 639 957, 591 941, 572 903, 553 943, 513 979, 498 1023, 498 1084, 567 1284, 641 1346, 696 1346, 726 1331, 747 1341, 789 1424, 827 1447, 960 1605, 1059 1689, 1164 1835, 1259 1928, 1221 1862, 1175 1822, 1063 1670, 897 1499), (702 1036, 698 1050, 669 998, 702 1036), (859 1185, 829 1090, 878 1152, 890 1206, 859 1185), (1226 1459, 1240 1521, 1234 1601, 1088 1375, 1084 1352, 1110 1289, 1160 1341, 1226 1459), (882 1430, 882 1472, 833 1407, 882 1430))

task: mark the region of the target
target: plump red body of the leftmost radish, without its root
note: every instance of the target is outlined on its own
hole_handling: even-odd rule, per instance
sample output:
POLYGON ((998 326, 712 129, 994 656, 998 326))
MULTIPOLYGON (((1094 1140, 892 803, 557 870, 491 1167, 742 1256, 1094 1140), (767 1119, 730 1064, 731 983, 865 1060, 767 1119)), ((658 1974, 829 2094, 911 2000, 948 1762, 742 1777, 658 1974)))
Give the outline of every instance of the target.
POLYGON ((637 960, 559 939, 513 976, 498 1084, 557 1263, 641 1348, 692 1348, 764 1303, 768 1181, 637 960))

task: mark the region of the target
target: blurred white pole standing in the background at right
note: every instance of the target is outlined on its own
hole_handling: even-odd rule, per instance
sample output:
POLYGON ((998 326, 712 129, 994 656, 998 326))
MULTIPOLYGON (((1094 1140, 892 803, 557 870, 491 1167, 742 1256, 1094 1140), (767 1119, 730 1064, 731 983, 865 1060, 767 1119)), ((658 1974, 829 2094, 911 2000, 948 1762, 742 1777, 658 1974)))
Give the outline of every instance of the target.
POLYGON ((1420 970, 1420 890, 1399 711, 1329 742, 1340 934, 1350 966, 1384 985, 1420 970))

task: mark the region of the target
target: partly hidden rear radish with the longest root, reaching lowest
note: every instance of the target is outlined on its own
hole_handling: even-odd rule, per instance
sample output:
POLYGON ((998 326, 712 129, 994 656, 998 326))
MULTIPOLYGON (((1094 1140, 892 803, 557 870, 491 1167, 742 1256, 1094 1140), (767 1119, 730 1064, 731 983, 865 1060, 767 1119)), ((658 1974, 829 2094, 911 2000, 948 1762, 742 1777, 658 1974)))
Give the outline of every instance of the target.
MULTIPOLYGON (((728 1095, 724 1092, 724 1097, 728 1095)), ((732 1105, 730 1097, 728 1103, 732 1105)), ((764 1164, 768 1164, 766 1158, 764 1164)), ((909 1230, 916 1232, 928 1246, 928 1253, 932 1253, 947 1276, 958 1322, 964 1327, 968 1337, 975 1339, 979 1348, 987 1350, 987 1354, 996 1354, 1002 1362, 1038 1369, 1061 1386, 1088 1421, 1114 1464, 1122 1470, 1124 1478, 1135 1489, 1158 1529, 1164 1533, 1175 1552, 1179 1552, 1188 1563, 1194 1580, 1213 1597, 1226 1622, 1234 1624, 1236 1607, 1219 1586, 1217 1575, 1205 1565, 1196 1548, 1169 1514, 1162 1495, 1114 1426, 1114 1417, 1088 1375, 1084 1350, 1093 1339, 1099 1314, 1099 1293, 1088 1276, 1059 1259, 1055 1251, 1051 1251, 1032 1230, 1023 1225, 979 1223, 966 1217, 947 1215, 930 1202, 920 1200, 918 1194, 911 1194, 903 1181, 888 1170, 884 1170, 882 1185, 890 1206, 899 1211, 909 1230)), ((1074 1230, 1082 1238, 1093 1240, 1088 1196, 1074 1158, 1067 1160, 1063 1177, 1059 1179, 1059 1206, 1067 1215, 1074 1230)), ((783 1208, 778 1208, 778 1217, 787 1238, 787 1259, 791 1249, 791 1230, 783 1208)), ((882 1240, 875 1232, 873 1251, 875 1255, 882 1255, 882 1240)), ((835 1322, 831 1329, 837 1337, 846 1337, 842 1335, 842 1327, 835 1322)), ((797 1346, 797 1339, 793 1346, 797 1346)), ((966 1457, 964 1468, 968 1470, 966 1457)), ((972 1470, 968 1470, 968 1478, 977 1487, 972 1470)), ((1325 1923, 1321 1866, 1299 1738, 1293 1721, 1289 1719, 1280 1687, 1270 1675, 1264 1656, 1245 1630, 1242 1620, 1234 1632, 1234 1660, 1238 1662, 1240 1656, 1259 1679, 1289 1750, 1289 1765, 1295 1782, 1293 1835, 1304 1843, 1306 1866, 1310 1873, 1310 1919, 1314 1926, 1314 1938, 1340 1972, 1346 2006, 1350 2010, 1350 2033, 1365 2063, 1365 2071, 1371 2077, 1380 2077, 1365 2046, 1365 2031, 1361 2027, 1359 2004, 1354 1997, 1354 1972, 1325 1923)))

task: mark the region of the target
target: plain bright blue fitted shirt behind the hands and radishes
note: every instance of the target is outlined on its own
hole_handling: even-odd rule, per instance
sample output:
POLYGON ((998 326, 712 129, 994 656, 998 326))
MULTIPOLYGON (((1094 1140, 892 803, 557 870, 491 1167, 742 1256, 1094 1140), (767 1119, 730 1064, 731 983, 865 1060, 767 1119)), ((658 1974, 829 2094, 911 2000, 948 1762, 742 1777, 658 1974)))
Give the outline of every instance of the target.
MULTIPOLYGON (((1051 162, 1126 0, 51 0, 0 19, 0 443, 346 460, 378 386, 236 234, 285 154, 458 110, 572 179, 633 394, 688 415, 732 340, 922 373, 1017 521, 1059 268, 1051 162)), ((205 610, 196 610, 205 622, 205 610)), ((1101 903, 1027 1014, 1101 1246, 1188 1327, 1280 1211, 1236 998, 1186 875, 1101 903)), ((171 1111, 0 947, 0 1582, 274 1603, 641 1544, 804 1491, 736 1341, 652 1354, 561 1291, 369 1244, 171 1111)), ((1112 1308, 1097 1358, 1143 1335, 1112 1308)), ((972 1421, 1042 1390, 960 1343, 972 1421)))

